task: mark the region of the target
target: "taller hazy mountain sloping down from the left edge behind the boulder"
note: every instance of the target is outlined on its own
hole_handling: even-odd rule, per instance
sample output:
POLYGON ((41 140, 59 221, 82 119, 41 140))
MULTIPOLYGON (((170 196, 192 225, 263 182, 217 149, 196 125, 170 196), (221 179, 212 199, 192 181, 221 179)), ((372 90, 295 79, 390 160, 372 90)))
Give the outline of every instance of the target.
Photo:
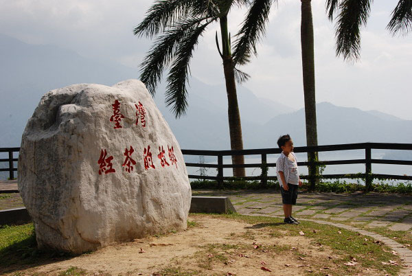
MULTIPOLYGON (((20 146, 27 119, 47 91, 76 83, 113 85, 137 77, 137 69, 115 62, 91 60, 54 45, 29 45, 0 34, 0 147, 20 146)), ((159 86, 155 101, 182 147, 229 148, 224 84, 211 86, 191 78, 187 115, 177 120, 163 103, 164 87, 159 86)), ((293 111, 244 87, 238 87, 238 95, 242 125, 248 129, 293 111)))

